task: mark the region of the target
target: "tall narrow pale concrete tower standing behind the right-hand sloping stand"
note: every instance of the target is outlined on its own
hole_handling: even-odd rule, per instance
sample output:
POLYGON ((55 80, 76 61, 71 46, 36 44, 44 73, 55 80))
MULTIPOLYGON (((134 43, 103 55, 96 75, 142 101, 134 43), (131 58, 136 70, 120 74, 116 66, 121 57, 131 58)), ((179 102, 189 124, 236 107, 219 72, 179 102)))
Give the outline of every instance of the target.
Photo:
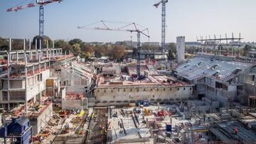
POLYGON ((178 36, 176 38, 177 62, 181 63, 185 60, 185 37, 178 36))

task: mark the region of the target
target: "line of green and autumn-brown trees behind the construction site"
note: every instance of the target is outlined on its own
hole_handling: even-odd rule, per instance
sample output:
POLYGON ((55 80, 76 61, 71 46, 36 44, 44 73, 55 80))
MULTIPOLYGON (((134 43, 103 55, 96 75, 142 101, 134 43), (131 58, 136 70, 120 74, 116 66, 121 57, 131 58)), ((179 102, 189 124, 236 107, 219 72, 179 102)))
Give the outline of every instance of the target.
MULTIPOLYGON (((53 48, 53 40, 48 36, 36 35, 32 42, 31 48, 35 49, 36 44, 39 48, 39 40, 41 40, 42 48, 46 48, 46 45, 49 48, 53 48), (37 41, 37 43, 36 43, 37 41)), ((26 48, 28 48, 28 43, 26 43, 26 48)), ((103 45, 88 44, 80 40, 79 38, 74 38, 72 40, 55 40, 54 48, 62 48, 63 52, 73 52, 75 56, 80 55, 80 57, 88 59, 89 57, 110 57, 112 60, 122 61, 127 54, 127 50, 133 50, 136 54, 136 48, 127 45, 126 43, 120 43, 119 45, 114 45, 112 43, 106 43, 103 45)), ((9 50, 9 40, 0 37, 0 49, 9 50)), ((23 40, 13 40, 12 41, 12 50, 22 50, 23 49, 23 40)), ((155 45, 142 45, 141 50, 161 50, 160 46, 155 45)), ((176 57, 176 44, 169 43, 166 45, 166 50, 169 52, 169 59, 174 60, 176 57)))

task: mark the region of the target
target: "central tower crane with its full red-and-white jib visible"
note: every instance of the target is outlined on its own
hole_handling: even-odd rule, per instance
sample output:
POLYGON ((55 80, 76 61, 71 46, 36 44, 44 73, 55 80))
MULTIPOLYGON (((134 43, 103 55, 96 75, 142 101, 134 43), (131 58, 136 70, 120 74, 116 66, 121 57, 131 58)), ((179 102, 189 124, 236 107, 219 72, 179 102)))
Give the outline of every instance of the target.
MULTIPOLYGON (((138 29, 138 24, 137 23, 128 23, 126 24, 125 26, 122 26, 120 28, 109 28, 106 24, 107 21, 99 21, 99 22, 96 22, 96 23, 102 23, 104 27, 88 27, 88 26, 91 26, 92 24, 95 24, 95 23, 92 23, 88 26, 78 26, 78 29, 80 28, 84 28, 84 29, 92 29, 92 30, 105 30, 105 31, 127 31, 127 32, 130 32, 130 33, 137 33, 137 79, 142 79, 141 75, 140 75, 140 49, 141 49, 141 42, 140 42, 140 35, 145 35, 147 38, 149 38, 149 29, 148 28, 144 28, 143 30, 139 30, 138 29), (129 29, 128 27, 129 26, 132 26, 134 27, 133 29, 129 29), (127 29, 128 28, 128 29, 127 29), (144 33, 144 32, 147 32, 144 33)), ((120 22, 122 23, 122 22, 120 22)))

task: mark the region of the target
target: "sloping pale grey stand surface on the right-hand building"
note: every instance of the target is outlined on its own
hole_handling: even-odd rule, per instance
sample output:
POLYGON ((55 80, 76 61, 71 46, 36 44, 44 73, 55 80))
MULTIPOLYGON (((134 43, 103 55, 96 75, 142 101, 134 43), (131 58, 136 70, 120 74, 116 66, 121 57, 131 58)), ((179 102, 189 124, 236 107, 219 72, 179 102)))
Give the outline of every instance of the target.
POLYGON ((191 60, 179 65, 176 74, 188 80, 198 79, 201 76, 213 77, 221 81, 229 80, 236 70, 244 70, 252 66, 246 62, 228 60, 215 60, 206 57, 193 57, 191 60))

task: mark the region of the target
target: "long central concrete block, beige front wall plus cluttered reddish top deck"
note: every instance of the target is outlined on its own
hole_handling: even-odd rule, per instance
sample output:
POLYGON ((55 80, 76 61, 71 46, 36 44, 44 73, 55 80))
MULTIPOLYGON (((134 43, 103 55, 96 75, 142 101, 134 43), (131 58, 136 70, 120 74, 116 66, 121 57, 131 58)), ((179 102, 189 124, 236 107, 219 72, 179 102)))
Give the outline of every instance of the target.
MULTIPOLYGON (((130 68, 127 69, 127 74, 131 73, 130 68)), ((142 81, 134 81, 129 75, 100 76, 94 90, 97 106, 122 105, 143 100, 181 101, 192 95, 192 85, 178 82, 173 77, 151 74, 147 77, 142 81)))

